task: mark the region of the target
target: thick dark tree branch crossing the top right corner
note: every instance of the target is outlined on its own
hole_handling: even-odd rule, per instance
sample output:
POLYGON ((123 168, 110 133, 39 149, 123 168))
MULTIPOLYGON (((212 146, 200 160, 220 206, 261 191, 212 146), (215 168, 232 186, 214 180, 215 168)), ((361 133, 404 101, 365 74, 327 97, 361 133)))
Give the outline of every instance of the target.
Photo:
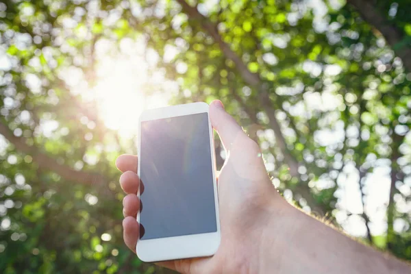
POLYGON ((406 37, 401 30, 394 25, 391 25, 384 16, 379 13, 373 3, 366 0, 347 0, 360 13, 364 21, 373 25, 384 36, 388 44, 393 47, 395 54, 401 58, 407 71, 411 71, 411 47, 402 45, 403 39, 406 37))

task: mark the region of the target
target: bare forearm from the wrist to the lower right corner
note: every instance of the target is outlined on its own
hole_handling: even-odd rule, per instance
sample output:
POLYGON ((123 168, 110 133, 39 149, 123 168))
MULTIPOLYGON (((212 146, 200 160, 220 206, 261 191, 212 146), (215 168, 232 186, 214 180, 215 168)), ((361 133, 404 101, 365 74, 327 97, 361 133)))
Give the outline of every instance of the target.
MULTIPOLYGON (((366 247, 300 212, 273 221, 261 256, 263 269, 277 273, 411 273, 405 262, 366 247)), ((265 271, 261 271, 265 273, 265 271)), ((267 272, 268 273, 268 272, 267 272)))

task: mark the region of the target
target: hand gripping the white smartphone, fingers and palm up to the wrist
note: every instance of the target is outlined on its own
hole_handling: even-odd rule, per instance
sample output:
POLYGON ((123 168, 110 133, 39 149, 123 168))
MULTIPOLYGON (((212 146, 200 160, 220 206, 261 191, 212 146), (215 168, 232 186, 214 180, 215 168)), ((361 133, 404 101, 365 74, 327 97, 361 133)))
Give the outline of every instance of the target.
MULTIPOLYGON (((273 238, 275 227, 279 227, 275 223, 292 207, 271 183, 256 142, 225 112, 221 101, 210 104, 210 119, 227 155, 218 178, 221 245, 210 258, 159 264, 182 273, 262 272, 263 249, 272 242, 269 239, 273 238)), ((137 164, 134 155, 121 155, 116 160, 116 166, 123 172, 120 184, 127 193, 123 199, 124 241, 134 252, 139 230, 136 214, 140 208, 136 196, 140 182, 137 164)))

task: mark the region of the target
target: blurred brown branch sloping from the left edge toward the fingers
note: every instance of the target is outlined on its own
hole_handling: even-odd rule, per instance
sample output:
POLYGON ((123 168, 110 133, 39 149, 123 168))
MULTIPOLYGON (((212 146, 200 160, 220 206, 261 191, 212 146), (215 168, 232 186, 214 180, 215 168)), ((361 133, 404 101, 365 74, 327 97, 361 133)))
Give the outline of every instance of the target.
POLYGON ((69 166, 58 164, 55 159, 51 158, 46 153, 41 152, 37 147, 29 146, 25 142, 25 138, 16 137, 7 125, 0 123, 0 134, 3 135, 9 142, 16 147, 17 151, 31 155, 33 161, 38 164, 40 169, 47 169, 60 175, 62 178, 77 182, 79 184, 105 184, 107 179, 98 173, 88 173, 85 171, 76 171, 69 166))

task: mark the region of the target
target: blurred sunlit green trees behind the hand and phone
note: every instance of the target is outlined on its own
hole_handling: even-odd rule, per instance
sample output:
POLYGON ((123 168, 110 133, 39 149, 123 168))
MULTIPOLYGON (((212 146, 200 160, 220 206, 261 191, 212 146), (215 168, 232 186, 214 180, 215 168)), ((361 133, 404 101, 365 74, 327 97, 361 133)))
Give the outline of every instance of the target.
POLYGON ((1 0, 0 272, 171 273, 123 245, 114 161, 212 99, 285 199, 411 260, 410 0, 1 0))

